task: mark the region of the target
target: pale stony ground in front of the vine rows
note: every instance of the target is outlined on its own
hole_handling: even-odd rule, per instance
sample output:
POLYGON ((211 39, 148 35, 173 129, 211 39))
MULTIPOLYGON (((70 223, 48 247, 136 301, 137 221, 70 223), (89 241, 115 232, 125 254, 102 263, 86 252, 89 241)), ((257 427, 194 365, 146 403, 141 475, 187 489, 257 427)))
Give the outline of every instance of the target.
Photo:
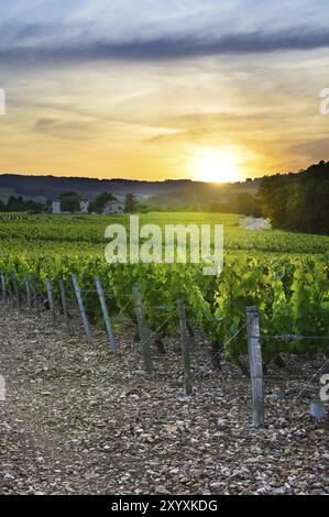
POLYGON ((0 304, 0 493, 327 494, 328 420, 309 416, 318 380, 294 395, 321 361, 290 360, 266 378, 266 425, 250 426, 249 382, 206 366, 193 346, 194 395, 182 391, 177 340, 151 376, 133 341, 88 345, 48 316, 0 304))

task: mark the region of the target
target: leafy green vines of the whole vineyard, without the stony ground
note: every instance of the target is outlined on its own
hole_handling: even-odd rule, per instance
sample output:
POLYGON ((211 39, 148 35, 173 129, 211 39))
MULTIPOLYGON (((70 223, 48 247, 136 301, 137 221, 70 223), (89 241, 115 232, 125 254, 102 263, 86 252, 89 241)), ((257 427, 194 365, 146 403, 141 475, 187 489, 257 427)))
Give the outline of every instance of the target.
POLYGON ((128 217, 2 215, 0 268, 9 293, 14 292, 14 275, 21 296, 26 279, 33 278, 39 296, 46 298, 50 278, 55 300, 61 300, 59 280, 73 300, 72 275, 76 275, 89 320, 102 326, 95 277, 100 278, 111 318, 135 317, 129 299, 138 282, 147 323, 153 331, 161 327, 162 336, 177 329, 174 309, 183 296, 190 327, 200 328, 215 345, 224 344, 227 358, 239 359, 246 351, 245 332, 239 329, 248 306, 260 309, 266 362, 281 352, 308 355, 327 349, 329 238, 250 232, 240 227, 238 216, 229 215, 141 216, 141 224, 160 227, 222 223, 224 268, 212 277, 204 276, 201 265, 195 264, 107 264, 105 229, 112 222, 127 226, 128 217))

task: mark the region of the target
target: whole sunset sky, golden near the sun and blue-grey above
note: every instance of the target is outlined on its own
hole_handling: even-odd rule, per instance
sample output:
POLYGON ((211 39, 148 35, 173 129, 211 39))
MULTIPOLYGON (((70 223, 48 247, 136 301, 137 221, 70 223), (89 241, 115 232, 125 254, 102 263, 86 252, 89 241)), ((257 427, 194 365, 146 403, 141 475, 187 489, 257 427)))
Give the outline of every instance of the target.
POLYGON ((329 160, 328 0, 0 0, 0 173, 235 180, 329 160))

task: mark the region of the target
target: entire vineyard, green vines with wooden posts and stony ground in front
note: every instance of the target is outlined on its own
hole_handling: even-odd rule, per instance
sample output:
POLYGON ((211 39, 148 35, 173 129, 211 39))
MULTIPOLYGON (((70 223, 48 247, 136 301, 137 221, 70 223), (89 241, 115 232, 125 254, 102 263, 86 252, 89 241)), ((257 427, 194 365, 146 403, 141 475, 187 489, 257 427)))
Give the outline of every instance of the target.
POLYGON ((223 223, 222 273, 109 265, 127 216, 0 219, 0 492, 327 493, 329 238, 141 220, 223 223))

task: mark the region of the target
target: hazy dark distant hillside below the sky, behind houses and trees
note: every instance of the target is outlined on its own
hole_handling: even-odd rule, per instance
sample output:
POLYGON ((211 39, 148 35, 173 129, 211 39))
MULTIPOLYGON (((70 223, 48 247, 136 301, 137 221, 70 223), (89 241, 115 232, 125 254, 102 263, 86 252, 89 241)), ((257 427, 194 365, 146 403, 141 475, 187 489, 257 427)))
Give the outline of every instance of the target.
POLYGON ((75 191, 94 200, 99 194, 108 191, 117 198, 133 193, 140 200, 160 208, 185 205, 204 205, 230 201, 240 191, 255 194, 259 180, 241 184, 208 184, 189 179, 165 182, 139 182, 130 179, 92 179, 55 176, 25 176, 15 174, 0 175, 0 199, 9 196, 23 196, 26 199, 44 201, 56 198, 62 193, 75 191))

